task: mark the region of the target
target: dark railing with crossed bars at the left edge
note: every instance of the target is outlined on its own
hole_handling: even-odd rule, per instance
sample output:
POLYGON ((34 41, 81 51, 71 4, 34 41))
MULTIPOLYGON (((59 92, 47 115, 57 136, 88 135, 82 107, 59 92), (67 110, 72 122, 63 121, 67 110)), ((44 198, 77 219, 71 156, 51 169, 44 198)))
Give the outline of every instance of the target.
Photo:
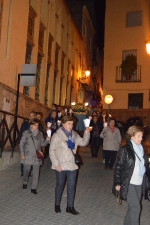
MULTIPOLYGON (((0 158, 2 158, 2 152, 6 145, 10 144, 12 148, 12 157, 15 150, 15 147, 18 142, 19 127, 16 123, 17 119, 28 120, 25 117, 15 115, 3 110, 0 110, 1 119, 0 119, 0 158), (10 124, 8 124, 8 117, 11 117, 10 124), (16 124, 16 125, 15 125, 16 124), (8 143, 9 141, 9 143, 8 143)), ((9 118, 10 119, 10 118, 9 118)), ((22 121, 23 122, 23 121, 22 121)), ((8 145, 9 146, 9 145, 8 145)))

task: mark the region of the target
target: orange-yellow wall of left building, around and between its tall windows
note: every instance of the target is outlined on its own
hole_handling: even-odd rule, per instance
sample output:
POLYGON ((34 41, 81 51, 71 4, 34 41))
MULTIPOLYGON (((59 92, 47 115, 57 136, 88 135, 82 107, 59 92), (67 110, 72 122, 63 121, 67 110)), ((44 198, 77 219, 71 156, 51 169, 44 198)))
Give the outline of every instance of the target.
MULTIPOLYGON (((41 64, 40 75, 40 93, 39 102, 44 104, 45 82, 47 72, 47 54, 49 33, 53 36, 51 68, 49 74, 48 88, 48 107, 53 103, 53 80, 55 69, 55 49, 56 43, 60 46, 58 59, 58 74, 56 84, 55 102, 59 104, 60 96, 60 78, 61 74, 61 55, 65 54, 64 74, 63 74, 63 92, 61 95, 61 104, 70 104, 71 90, 71 68, 74 68, 73 91, 71 101, 76 101, 76 93, 78 91, 77 79, 81 77, 81 62, 79 55, 86 59, 86 67, 88 62, 92 64, 92 55, 87 54, 85 43, 81 34, 71 16, 71 13, 64 0, 5 0, 2 14, 1 40, 0 40, 0 82, 8 87, 16 90, 17 74, 21 73, 22 64, 25 63, 27 28, 29 15, 29 2, 36 12, 34 27, 34 47, 32 50, 31 63, 37 64, 38 55, 38 38, 40 22, 46 27, 44 31, 43 59, 41 64), (66 95, 67 83, 67 66, 70 60, 69 68, 69 85, 66 95)), ((89 18, 88 18, 89 20, 89 18)), ((91 33, 91 37, 94 34, 91 33)), ((90 83, 90 78, 88 79, 90 83)), ((23 87, 20 87, 23 93, 23 87)), ((29 89, 30 98, 35 100, 35 87, 29 89)))

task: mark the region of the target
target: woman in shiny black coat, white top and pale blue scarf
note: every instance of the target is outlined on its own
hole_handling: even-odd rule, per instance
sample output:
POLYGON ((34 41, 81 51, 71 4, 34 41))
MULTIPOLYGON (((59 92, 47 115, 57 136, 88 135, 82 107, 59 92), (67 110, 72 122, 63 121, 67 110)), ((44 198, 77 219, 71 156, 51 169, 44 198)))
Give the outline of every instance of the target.
POLYGON ((114 169, 113 193, 120 191, 120 198, 128 203, 124 225, 140 224, 142 183, 147 167, 142 137, 141 127, 132 126, 128 129, 127 143, 120 148, 114 169))

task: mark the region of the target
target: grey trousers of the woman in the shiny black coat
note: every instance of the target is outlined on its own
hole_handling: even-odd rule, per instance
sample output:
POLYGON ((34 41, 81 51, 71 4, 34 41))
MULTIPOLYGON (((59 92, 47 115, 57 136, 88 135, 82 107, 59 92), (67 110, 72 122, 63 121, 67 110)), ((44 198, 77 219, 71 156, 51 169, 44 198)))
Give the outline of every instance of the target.
POLYGON ((141 212, 142 185, 130 184, 127 195, 128 211, 124 225, 139 225, 141 212))

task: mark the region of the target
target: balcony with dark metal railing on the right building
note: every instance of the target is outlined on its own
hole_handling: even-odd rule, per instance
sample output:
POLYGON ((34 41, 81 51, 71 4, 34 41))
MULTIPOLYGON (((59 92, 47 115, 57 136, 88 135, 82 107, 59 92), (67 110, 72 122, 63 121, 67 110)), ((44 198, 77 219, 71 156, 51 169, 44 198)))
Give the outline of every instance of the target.
POLYGON ((141 66, 137 65, 133 71, 132 66, 116 66, 116 83, 141 82, 141 66))

